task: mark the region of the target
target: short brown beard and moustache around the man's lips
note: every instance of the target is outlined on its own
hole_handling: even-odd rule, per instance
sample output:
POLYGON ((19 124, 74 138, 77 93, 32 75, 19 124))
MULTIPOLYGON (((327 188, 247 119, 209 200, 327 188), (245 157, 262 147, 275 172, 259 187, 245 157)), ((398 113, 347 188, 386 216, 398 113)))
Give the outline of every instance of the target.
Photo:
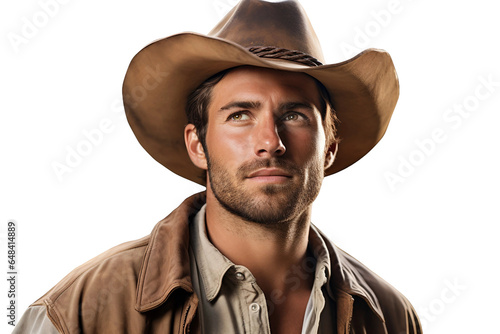
POLYGON ((235 174, 207 156, 208 175, 217 201, 229 212, 249 222, 278 224, 300 215, 316 199, 324 178, 323 162, 298 168, 283 158, 254 160, 241 165, 235 174), (293 176, 285 184, 267 184, 256 190, 245 187, 250 173, 276 167, 293 176))

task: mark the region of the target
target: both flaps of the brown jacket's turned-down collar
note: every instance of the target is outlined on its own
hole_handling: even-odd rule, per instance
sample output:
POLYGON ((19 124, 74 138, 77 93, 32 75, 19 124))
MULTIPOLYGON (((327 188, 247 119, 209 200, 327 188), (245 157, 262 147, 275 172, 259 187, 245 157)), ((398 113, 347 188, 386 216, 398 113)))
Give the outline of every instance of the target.
MULTIPOLYGON (((189 265, 189 222, 205 204, 205 192, 187 198, 177 209, 160 221, 151 233, 150 242, 144 254, 137 283, 136 309, 140 312, 152 310, 163 304, 177 289, 192 293, 189 265)), ((323 240, 328 238, 315 229, 323 240)), ((326 242, 330 253, 329 293, 332 296, 345 294, 361 297, 377 314, 384 316, 377 297, 364 281, 356 261, 326 242)))

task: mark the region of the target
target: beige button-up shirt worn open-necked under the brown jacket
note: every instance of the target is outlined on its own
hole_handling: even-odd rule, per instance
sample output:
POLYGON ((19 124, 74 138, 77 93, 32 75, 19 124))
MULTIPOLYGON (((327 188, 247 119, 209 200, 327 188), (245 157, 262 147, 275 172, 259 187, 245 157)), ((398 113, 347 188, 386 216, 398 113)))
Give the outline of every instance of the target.
MULTIPOLYGON (((314 226, 309 234, 309 248, 315 257, 292 269, 289 280, 293 285, 294 277, 315 273, 302 333, 335 333, 335 301, 325 285, 330 257, 314 226)), ((266 299, 250 270, 235 265, 212 245, 206 234, 205 206, 190 226, 190 260, 202 333, 271 333, 269 314, 279 307, 280 294, 266 299)))

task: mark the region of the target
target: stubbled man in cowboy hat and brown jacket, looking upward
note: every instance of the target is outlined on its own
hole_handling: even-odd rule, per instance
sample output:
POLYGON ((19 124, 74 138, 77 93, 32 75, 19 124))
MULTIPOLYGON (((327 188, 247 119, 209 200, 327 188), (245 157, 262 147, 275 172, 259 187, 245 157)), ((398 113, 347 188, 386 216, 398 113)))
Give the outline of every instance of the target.
POLYGON ((323 177, 387 128, 387 53, 322 65, 297 1, 243 0, 209 36, 140 51, 123 96, 143 147, 207 190, 76 268, 17 333, 421 332, 404 296, 310 222, 323 177))

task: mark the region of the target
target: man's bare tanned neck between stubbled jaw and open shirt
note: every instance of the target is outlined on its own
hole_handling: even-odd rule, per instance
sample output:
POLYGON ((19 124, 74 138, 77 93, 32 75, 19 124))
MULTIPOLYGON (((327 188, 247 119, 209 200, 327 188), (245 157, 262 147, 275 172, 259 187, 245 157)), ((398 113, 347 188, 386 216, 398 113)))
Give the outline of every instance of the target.
POLYGON ((290 221, 249 222, 227 211, 213 194, 207 194, 206 226, 210 241, 234 264, 247 267, 268 298, 272 294, 283 296, 311 289, 314 272, 304 269, 310 260, 307 257, 310 218, 309 207, 290 221))

